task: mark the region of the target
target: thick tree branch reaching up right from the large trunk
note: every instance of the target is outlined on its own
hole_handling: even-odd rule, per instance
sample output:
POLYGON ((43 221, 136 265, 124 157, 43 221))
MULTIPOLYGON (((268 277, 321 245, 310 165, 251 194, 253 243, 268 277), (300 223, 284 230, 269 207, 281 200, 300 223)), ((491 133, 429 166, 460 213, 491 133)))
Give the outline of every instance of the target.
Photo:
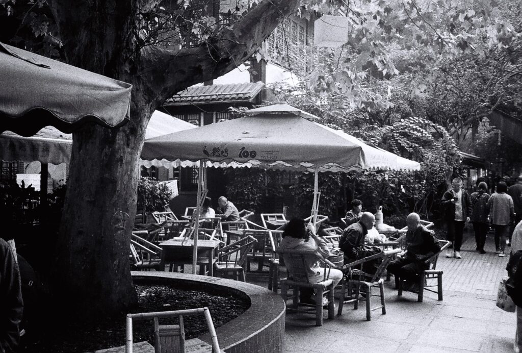
POLYGON ((164 101, 189 86, 217 78, 244 63, 276 26, 294 13, 299 0, 264 0, 224 27, 206 43, 177 52, 147 47, 142 51, 141 74, 150 76, 164 101))

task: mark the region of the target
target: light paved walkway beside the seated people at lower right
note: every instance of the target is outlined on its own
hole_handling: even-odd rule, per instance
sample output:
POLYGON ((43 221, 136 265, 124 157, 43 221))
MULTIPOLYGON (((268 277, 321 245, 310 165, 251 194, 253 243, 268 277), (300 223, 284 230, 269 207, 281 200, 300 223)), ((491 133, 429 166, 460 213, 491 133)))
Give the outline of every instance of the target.
MULTIPOLYGON (((515 313, 495 305, 508 257, 494 253, 491 236, 487 254, 474 249, 474 237, 466 234, 461 260, 439 258, 437 268, 444 270, 443 301, 430 292, 424 293, 422 303, 415 293, 398 297, 392 278, 385 284, 387 314, 373 311, 372 321, 365 321, 364 304, 357 311, 346 305, 341 316, 325 319, 321 327, 315 326, 312 315, 288 313, 285 351, 512 352, 515 313)), ((259 281, 253 276, 251 280, 259 281)))

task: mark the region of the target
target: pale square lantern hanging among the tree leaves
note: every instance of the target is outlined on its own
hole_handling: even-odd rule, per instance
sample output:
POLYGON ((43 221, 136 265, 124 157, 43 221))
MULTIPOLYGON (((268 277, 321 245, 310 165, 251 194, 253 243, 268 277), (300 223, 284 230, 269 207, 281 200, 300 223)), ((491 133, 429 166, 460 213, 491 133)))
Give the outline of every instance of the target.
POLYGON ((323 15, 314 22, 314 45, 337 48, 348 41, 350 19, 343 16, 323 15))

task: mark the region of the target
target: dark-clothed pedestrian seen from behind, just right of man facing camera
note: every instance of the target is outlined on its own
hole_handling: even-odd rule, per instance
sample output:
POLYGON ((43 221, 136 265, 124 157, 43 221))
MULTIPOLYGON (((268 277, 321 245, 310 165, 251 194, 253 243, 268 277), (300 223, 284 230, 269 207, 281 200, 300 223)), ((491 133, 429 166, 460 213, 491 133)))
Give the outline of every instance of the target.
POLYGON ((480 182, 478 190, 471 194, 471 222, 473 222, 473 230, 475 232, 475 242, 477 243, 477 251, 481 254, 485 254, 484 244, 486 237, 488 236, 489 224, 488 224, 488 200, 490 194, 488 194, 488 184, 480 182))

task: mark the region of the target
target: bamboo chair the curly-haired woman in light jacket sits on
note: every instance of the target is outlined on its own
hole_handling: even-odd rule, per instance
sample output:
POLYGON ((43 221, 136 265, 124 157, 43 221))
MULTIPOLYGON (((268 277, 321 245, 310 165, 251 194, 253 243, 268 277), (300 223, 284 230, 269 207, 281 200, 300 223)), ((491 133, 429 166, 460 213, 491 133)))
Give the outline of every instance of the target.
POLYGON ((285 303, 288 297, 288 288, 292 288, 293 305, 290 308, 287 307, 287 310, 315 314, 315 325, 322 326, 323 297, 326 296, 328 299, 328 319, 334 319, 334 280, 328 279, 328 276, 330 274, 329 269, 335 267, 335 265, 315 251, 278 249, 277 252, 282 258, 284 258, 288 270, 288 277, 281 279, 281 297, 285 303), (310 283, 306 272, 307 266, 305 258, 307 256, 314 256, 325 264, 326 267, 322 281, 318 283, 310 283), (299 302, 300 288, 311 288, 315 291, 315 304, 299 302), (300 306, 305 309, 299 309, 300 306))

